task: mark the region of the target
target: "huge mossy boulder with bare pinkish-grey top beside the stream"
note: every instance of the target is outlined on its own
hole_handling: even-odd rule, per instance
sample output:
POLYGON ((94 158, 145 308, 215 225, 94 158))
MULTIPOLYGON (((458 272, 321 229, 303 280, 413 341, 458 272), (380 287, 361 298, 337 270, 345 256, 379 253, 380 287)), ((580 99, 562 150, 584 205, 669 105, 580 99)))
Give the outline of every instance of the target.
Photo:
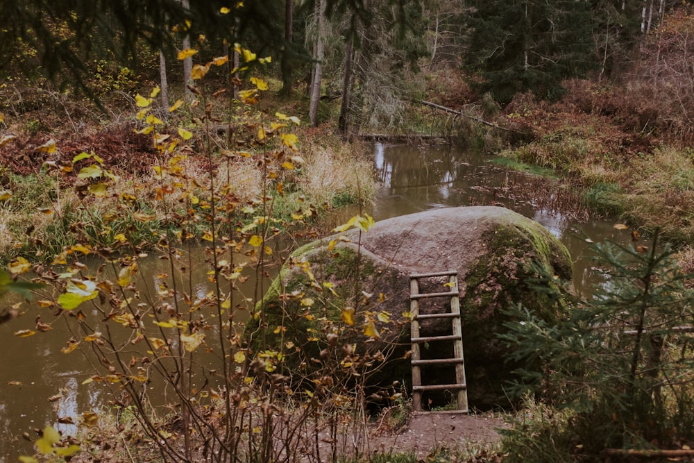
MULTIPOLYGON (((338 366, 357 374, 378 367, 368 385, 400 380, 411 386, 409 275, 455 269, 468 401, 480 409, 505 405, 504 386, 514 368, 505 363, 507 347, 497 337, 505 332, 505 308, 523 303, 548 320, 561 312, 559 301, 531 282, 534 266, 571 278, 566 247, 537 222, 505 208, 445 208, 387 219, 367 232, 349 230, 292 253, 248 321, 246 337, 253 351, 281 349, 288 368, 304 377, 337 358, 338 366)), ((422 280, 422 292, 446 291, 447 281, 422 280)), ((421 312, 448 304, 428 301, 421 312)), ((422 323, 421 332, 450 334, 450 322, 422 323)), ((423 357, 450 356, 450 344, 427 344, 423 357)), ((431 369, 424 377, 427 384, 452 382, 446 374, 431 369)))

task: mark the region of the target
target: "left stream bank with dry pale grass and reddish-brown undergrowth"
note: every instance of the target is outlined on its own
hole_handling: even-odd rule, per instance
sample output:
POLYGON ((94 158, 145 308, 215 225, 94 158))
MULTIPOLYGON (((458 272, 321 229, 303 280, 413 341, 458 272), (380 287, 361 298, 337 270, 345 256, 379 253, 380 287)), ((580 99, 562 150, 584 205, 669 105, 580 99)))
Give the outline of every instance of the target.
POLYGON ((216 201, 233 203, 225 212, 239 222, 260 213, 275 230, 373 196, 369 146, 301 125, 283 113, 292 101, 220 108, 210 119, 227 122, 214 126, 194 106, 170 114, 153 107, 145 118, 135 100, 111 104, 110 112, 130 115, 103 121, 95 112, 61 124, 60 114, 42 108, 5 118, 0 262, 50 261, 77 244, 143 250, 167 233, 204 239, 212 190, 216 201))

